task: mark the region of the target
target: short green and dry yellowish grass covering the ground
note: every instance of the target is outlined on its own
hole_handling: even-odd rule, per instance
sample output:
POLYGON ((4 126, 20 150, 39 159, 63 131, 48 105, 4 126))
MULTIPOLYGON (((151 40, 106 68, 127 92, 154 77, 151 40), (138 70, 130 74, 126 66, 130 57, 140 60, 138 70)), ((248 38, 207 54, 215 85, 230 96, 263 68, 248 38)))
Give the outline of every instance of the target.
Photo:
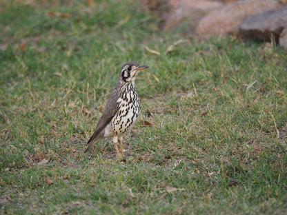
POLYGON ((1 214, 286 214, 286 50, 81 2, 1 3, 1 214), (150 66, 127 161, 83 154, 127 61, 150 66))

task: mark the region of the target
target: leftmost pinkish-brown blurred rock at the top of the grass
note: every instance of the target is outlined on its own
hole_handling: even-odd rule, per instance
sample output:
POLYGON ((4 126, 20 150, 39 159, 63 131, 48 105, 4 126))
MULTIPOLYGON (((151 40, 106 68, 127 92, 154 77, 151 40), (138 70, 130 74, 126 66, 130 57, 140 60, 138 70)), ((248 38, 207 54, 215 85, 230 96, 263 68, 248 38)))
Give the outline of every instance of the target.
POLYGON ((170 1, 170 12, 166 17, 164 30, 172 28, 188 28, 192 31, 198 21, 215 8, 221 8, 223 3, 208 0, 181 0, 170 1))

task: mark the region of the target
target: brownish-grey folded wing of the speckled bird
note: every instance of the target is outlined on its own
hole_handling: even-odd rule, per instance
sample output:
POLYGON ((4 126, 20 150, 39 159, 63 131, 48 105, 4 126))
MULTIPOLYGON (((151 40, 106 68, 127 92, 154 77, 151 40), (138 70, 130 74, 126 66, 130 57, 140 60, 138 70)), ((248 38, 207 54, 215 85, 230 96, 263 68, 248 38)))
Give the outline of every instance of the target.
POLYGON ((101 134, 101 131, 105 129, 106 125, 110 123, 112 118, 117 113, 117 100, 119 99, 119 88, 116 88, 114 91, 112 91, 112 94, 110 95, 110 99, 108 99, 108 102, 106 103, 106 106, 103 110, 103 114, 101 115, 101 118, 99 119, 99 122, 97 123, 97 127, 95 132, 92 134, 91 138, 89 139, 87 145, 88 147, 84 151, 84 153, 88 152, 90 146, 94 141, 97 139, 102 139, 103 136, 99 136, 101 134))

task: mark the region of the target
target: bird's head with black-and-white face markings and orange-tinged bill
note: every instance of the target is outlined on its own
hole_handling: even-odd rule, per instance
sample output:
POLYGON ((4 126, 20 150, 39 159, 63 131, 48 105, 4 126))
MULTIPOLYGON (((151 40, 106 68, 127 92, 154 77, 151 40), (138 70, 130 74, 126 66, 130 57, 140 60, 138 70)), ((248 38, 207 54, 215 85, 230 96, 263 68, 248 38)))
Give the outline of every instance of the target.
POLYGON ((136 62, 128 62, 121 68, 119 79, 121 84, 134 83, 135 77, 139 74, 140 70, 148 68, 147 65, 139 65, 136 62))

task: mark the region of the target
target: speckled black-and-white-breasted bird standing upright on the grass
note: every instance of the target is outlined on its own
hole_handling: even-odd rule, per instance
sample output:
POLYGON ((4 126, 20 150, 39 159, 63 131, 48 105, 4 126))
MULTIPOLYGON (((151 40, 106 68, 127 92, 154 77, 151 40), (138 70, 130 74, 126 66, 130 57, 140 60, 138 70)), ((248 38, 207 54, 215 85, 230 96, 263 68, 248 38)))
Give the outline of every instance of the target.
POLYGON ((146 68, 148 68, 147 65, 139 65, 136 62, 128 62, 123 65, 117 80, 117 86, 110 94, 110 98, 103 109, 94 133, 88 140, 88 146, 84 153, 88 152, 90 147, 101 139, 112 137, 112 143, 115 146, 118 158, 124 156, 121 145, 123 135, 135 125, 140 110, 139 97, 135 90, 135 78, 141 70, 146 68), (117 143, 119 143, 121 153, 117 143))

